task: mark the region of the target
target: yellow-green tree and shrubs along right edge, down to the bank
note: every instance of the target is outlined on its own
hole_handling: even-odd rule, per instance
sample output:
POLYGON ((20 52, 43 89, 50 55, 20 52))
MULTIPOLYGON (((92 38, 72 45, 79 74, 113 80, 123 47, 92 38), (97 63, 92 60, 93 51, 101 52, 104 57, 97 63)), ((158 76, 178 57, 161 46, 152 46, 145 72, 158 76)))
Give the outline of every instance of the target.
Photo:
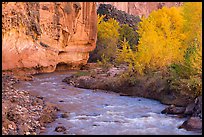
POLYGON ((202 94, 202 3, 186 2, 182 8, 185 55, 183 62, 171 66, 170 87, 196 97, 202 94))

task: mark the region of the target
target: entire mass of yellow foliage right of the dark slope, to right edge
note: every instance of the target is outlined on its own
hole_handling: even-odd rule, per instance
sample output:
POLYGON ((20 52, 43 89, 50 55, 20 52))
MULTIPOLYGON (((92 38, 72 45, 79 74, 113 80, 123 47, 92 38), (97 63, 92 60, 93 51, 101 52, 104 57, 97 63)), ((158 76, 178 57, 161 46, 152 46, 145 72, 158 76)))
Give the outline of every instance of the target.
POLYGON ((163 7, 142 18, 138 28, 138 51, 132 51, 123 41, 117 61, 128 63, 131 75, 149 70, 168 72, 171 90, 201 95, 202 3, 163 7))

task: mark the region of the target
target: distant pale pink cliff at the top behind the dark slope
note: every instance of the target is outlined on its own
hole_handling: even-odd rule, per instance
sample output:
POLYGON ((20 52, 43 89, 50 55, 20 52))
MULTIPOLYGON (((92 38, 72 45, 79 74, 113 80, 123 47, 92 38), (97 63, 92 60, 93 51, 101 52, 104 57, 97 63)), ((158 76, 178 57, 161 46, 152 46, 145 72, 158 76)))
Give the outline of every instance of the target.
POLYGON ((111 4, 119 10, 138 16, 148 16, 150 12, 160 9, 163 6, 179 6, 182 2, 97 2, 99 4, 111 4))

